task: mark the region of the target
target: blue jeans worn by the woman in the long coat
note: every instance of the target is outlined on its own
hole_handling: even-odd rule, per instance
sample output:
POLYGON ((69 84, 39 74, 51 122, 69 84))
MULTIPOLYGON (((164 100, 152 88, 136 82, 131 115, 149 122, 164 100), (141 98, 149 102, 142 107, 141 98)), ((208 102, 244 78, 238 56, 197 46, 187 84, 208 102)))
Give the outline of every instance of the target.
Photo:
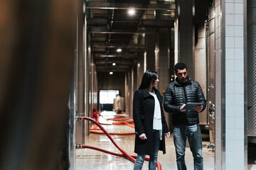
MULTIPOLYGON (((149 155, 149 170, 156 169, 157 154, 159 152, 159 146, 160 146, 159 130, 153 130, 153 139, 155 140, 153 142, 154 149, 152 150, 151 154, 149 155)), ((146 157, 146 154, 138 154, 137 155, 136 162, 134 162, 134 170, 142 169, 145 157, 146 157)))

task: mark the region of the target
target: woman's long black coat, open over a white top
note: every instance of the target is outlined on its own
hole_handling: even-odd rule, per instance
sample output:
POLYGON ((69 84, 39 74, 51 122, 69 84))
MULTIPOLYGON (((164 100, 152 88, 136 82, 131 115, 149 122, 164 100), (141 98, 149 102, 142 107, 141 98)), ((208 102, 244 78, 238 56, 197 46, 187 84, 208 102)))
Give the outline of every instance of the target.
MULTIPOLYGON (((160 103, 161 108, 161 123, 162 123, 162 140, 159 150, 166 153, 165 149, 165 137, 164 133, 169 132, 168 126, 166 124, 166 119, 164 117, 164 111, 162 107, 163 96, 153 88, 156 96, 160 103)), ((147 89, 139 89, 134 93, 133 101, 133 119, 135 125, 135 149, 134 152, 137 154, 151 154, 151 149, 153 149, 153 119, 154 119, 154 96, 149 94, 147 89), (141 140, 139 135, 142 133, 146 134, 146 140, 141 140)))

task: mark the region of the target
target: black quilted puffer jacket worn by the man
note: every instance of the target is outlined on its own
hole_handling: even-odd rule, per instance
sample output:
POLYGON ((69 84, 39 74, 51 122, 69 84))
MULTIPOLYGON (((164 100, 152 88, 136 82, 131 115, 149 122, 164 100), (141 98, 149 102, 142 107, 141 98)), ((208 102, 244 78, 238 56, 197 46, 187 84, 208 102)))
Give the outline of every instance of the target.
MULTIPOLYGON (((206 98, 203 95, 200 84, 197 81, 188 81, 183 86, 175 80, 169 84, 164 94, 164 110, 172 114, 173 125, 194 125, 199 123, 198 112, 188 110, 180 111, 180 107, 186 103, 203 103, 203 110, 206 108, 206 98)), ((202 110, 202 111, 203 111, 202 110)))

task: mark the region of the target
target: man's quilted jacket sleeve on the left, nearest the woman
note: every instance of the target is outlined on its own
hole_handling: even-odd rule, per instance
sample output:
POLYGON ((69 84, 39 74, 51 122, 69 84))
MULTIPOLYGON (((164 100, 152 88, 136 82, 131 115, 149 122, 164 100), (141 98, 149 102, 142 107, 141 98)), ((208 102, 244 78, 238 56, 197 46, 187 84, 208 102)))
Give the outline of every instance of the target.
POLYGON ((181 113, 180 107, 181 106, 175 106, 174 105, 174 94, 173 91, 171 91, 171 84, 167 86, 166 92, 164 94, 164 111, 172 114, 181 113))

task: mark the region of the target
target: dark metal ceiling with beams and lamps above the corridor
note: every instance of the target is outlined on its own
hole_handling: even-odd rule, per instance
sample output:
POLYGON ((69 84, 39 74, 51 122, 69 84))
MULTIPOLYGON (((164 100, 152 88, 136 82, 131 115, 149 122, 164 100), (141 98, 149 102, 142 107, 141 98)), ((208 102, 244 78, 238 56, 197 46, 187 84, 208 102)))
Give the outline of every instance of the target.
POLYGON ((127 72, 134 60, 143 57, 147 34, 174 27, 175 2, 91 0, 85 3, 85 13, 97 72, 127 72), (128 15, 128 8, 135 9, 134 16, 128 15))

